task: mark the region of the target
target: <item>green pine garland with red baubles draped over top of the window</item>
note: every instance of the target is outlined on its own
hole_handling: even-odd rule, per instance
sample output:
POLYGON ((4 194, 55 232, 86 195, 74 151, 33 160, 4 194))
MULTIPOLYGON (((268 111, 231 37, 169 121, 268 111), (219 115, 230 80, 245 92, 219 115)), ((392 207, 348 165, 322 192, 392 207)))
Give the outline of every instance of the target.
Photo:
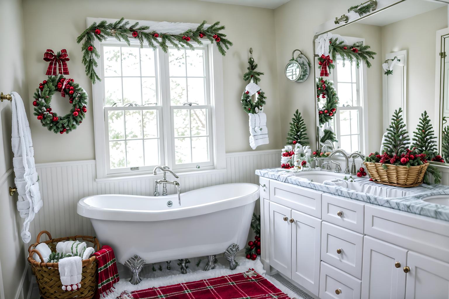
POLYGON ((100 77, 95 72, 95 67, 98 66, 97 60, 100 58, 100 53, 94 46, 95 39, 100 42, 105 41, 108 37, 115 37, 118 41, 124 40, 128 46, 131 45, 129 35, 138 39, 141 48, 146 42, 150 48, 154 50, 160 46, 162 50, 167 53, 168 45, 172 45, 176 49, 189 48, 194 50, 190 40, 202 45, 201 39, 208 39, 211 43, 216 42, 218 51, 221 55, 226 55, 226 50, 233 45, 231 41, 226 39, 226 35, 220 33, 225 30, 225 26, 220 26, 220 22, 215 22, 211 26, 205 27, 206 21, 203 21, 195 30, 189 29, 181 34, 166 34, 163 32, 156 32, 150 29, 150 26, 139 26, 139 22, 135 22, 130 26, 129 21, 125 21, 122 17, 120 20, 108 23, 106 20, 101 22, 93 22, 83 33, 76 39, 77 43, 82 43, 81 51, 83 51, 83 64, 86 68, 86 75, 90 78, 92 83, 96 80, 101 81, 100 77))

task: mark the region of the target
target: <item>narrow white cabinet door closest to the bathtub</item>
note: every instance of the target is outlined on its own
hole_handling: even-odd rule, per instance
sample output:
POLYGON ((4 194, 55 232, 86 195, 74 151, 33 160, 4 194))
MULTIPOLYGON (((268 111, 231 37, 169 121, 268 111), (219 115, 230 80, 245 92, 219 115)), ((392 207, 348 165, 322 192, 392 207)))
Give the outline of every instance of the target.
POLYGON ((291 278, 291 209, 270 202, 270 265, 291 278))

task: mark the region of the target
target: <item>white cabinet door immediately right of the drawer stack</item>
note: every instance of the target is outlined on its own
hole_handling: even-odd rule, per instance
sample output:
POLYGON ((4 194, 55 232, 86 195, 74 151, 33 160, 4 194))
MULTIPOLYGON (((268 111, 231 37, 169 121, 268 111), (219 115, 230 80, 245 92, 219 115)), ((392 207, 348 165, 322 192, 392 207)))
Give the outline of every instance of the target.
MULTIPOLYGON (((407 250, 365 236, 362 296, 364 299, 404 299, 407 250), (400 265, 396 268, 395 263, 400 265)), ((429 297, 427 297, 429 298, 429 297)))

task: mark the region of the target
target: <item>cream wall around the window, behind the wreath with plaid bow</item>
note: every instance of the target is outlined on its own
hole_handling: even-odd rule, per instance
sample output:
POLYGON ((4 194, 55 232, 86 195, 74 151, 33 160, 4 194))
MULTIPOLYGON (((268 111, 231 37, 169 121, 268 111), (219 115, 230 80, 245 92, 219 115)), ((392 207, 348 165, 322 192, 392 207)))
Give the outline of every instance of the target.
MULTIPOLYGON (((193 22, 207 20, 220 21, 226 26, 225 33, 234 43, 223 60, 225 95, 225 138, 226 152, 251 150, 248 142, 248 116, 241 107, 240 98, 245 88, 242 80, 247 68, 249 48, 254 50, 254 58, 259 69, 265 73, 260 86, 268 100, 265 112, 268 117, 270 144, 257 147, 257 150, 279 148, 280 105, 277 93, 276 45, 273 42, 274 11, 255 7, 216 4, 195 0, 79 0, 76 5, 61 5, 61 1, 24 0, 23 14, 26 39, 26 80, 28 92, 34 93, 39 82, 45 79, 48 63, 42 60, 45 49, 60 51, 66 48, 70 78, 74 78, 92 95, 92 84, 84 74, 81 63, 81 50, 75 42, 76 37, 86 29, 86 17, 120 18, 136 20, 193 22), (48 13, 48 8, 52 8, 48 13), (43 17, 45 16, 45 17, 43 17), (48 28, 54 28, 45 32, 48 28)), ((67 111, 68 104, 57 103, 54 97, 54 110, 67 111)), ((31 117, 32 137, 35 145, 36 163, 68 160, 95 159, 92 100, 88 105, 88 116, 79 128, 70 134, 53 134, 31 117), (49 154, 51 153, 51 154, 49 154)), ((28 104, 31 106, 31 101, 28 104)))

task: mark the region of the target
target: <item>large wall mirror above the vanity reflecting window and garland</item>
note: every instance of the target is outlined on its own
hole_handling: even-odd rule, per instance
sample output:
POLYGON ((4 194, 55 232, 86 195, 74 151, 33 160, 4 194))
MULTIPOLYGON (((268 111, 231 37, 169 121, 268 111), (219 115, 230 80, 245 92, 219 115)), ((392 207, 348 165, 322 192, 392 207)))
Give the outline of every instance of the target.
POLYGON ((379 151, 395 109, 404 111, 410 137, 426 110, 439 151, 449 161, 447 27, 448 4, 444 1, 404 0, 318 32, 313 41, 317 148, 330 139, 335 148, 346 152, 379 151), (334 57, 330 53, 333 61, 327 66, 329 61, 318 55, 323 51, 319 47, 323 40, 332 43, 335 39, 356 44, 351 51, 369 45, 369 51, 375 52, 374 58, 368 58, 370 67, 363 61, 343 60, 338 53, 334 57), (329 76, 321 76, 323 66, 329 76), (328 86, 333 87, 338 102, 333 95, 322 94, 323 88, 329 91, 328 86))

